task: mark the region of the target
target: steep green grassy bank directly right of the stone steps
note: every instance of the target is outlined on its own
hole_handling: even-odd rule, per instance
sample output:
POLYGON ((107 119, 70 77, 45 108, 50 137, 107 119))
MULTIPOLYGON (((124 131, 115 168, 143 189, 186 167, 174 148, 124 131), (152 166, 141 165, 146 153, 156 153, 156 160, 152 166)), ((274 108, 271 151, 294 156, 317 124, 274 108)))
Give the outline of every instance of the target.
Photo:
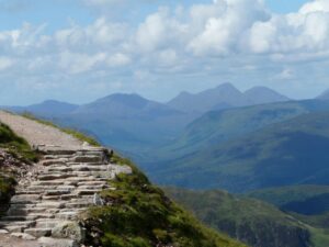
MULTIPOLYGON (((131 161, 114 157, 121 164, 131 161)), ((133 166, 132 175, 118 175, 101 197, 107 206, 89 210, 87 225, 101 232, 101 245, 110 247, 238 247, 243 246, 198 223, 170 201, 133 166), (89 223, 88 223, 89 222, 89 223)), ((89 232, 89 231, 88 231, 89 232)), ((91 242, 95 237, 90 236, 91 242)), ((88 243, 94 244, 94 243, 88 243)))

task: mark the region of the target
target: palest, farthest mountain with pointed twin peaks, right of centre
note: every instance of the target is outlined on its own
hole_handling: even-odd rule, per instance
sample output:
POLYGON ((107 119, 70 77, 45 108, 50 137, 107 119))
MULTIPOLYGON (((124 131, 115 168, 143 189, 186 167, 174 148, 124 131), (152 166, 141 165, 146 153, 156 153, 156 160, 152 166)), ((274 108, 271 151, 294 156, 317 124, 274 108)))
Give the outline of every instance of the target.
POLYGON ((182 92, 169 101, 168 105, 183 112, 205 113, 211 110, 222 110, 287 100, 288 98, 265 87, 256 87, 242 93, 231 83, 224 83, 196 94, 182 92))

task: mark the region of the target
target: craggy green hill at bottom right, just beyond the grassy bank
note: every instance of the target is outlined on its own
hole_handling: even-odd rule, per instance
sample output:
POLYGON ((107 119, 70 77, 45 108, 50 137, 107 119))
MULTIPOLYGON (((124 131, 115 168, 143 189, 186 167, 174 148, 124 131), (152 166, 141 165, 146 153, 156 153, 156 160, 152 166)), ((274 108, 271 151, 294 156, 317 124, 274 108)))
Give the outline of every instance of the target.
POLYGON ((309 232, 304 224, 268 203, 219 190, 170 188, 166 192, 207 225, 250 246, 300 247, 309 244, 309 232))

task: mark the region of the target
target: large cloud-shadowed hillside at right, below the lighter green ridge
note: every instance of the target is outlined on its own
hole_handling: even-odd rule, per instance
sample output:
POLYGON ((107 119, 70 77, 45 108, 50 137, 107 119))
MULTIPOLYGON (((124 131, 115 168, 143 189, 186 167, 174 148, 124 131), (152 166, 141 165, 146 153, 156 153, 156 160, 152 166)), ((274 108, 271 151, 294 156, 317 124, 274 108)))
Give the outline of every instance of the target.
POLYGON ((329 184, 329 113, 309 113, 150 169, 162 184, 245 192, 329 184))

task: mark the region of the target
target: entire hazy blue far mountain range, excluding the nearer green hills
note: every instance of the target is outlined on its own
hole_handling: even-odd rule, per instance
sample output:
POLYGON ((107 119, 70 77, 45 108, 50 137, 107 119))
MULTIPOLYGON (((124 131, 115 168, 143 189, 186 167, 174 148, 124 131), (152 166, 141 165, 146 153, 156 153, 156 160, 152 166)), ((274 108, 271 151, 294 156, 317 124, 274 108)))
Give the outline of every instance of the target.
POLYGON ((104 145, 135 157, 147 148, 171 143, 189 123, 208 110, 286 100, 268 88, 257 87, 241 93, 232 85, 225 83, 197 94, 181 93, 168 104, 138 94, 115 93, 83 105, 49 100, 29 106, 2 108, 78 127, 97 136, 104 145))

